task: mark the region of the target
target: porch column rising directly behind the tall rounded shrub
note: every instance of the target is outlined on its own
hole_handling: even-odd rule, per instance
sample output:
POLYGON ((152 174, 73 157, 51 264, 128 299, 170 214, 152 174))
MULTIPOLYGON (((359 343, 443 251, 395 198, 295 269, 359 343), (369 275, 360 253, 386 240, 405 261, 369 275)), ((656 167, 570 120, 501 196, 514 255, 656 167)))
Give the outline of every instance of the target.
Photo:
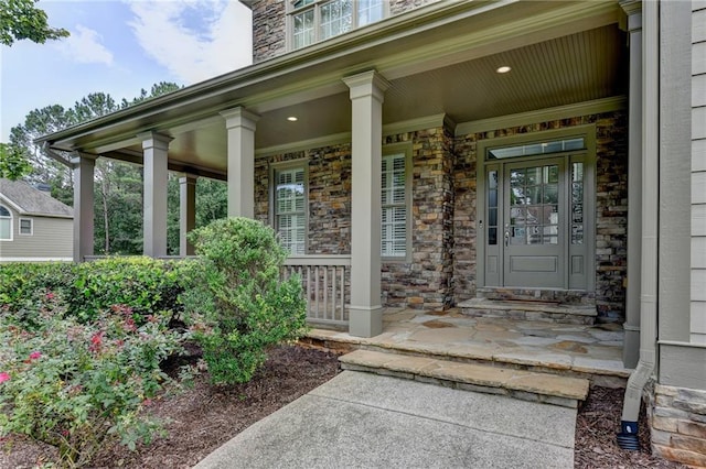
POLYGON ((255 216, 255 128, 259 116, 238 107, 221 112, 228 132, 228 217, 255 216))

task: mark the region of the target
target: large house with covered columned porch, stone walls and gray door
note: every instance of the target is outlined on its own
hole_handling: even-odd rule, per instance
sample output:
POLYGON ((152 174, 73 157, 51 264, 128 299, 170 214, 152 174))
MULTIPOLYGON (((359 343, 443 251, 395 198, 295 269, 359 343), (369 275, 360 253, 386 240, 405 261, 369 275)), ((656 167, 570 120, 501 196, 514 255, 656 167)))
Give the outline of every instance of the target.
POLYGON ((96 157, 145 165, 148 255, 168 172, 182 232, 224 179, 229 215, 350 284, 353 335, 479 297, 624 321, 625 432, 646 392, 655 449, 706 463, 703 1, 244 3, 255 65, 40 139, 74 152, 76 260, 96 157))

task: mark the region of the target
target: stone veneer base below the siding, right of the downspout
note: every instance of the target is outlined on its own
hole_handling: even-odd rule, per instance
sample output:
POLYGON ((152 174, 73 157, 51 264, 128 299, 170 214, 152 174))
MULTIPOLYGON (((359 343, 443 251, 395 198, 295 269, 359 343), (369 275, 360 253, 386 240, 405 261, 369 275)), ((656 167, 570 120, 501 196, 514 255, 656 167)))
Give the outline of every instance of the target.
POLYGON ((655 455, 706 467, 706 391, 656 384, 648 390, 648 417, 655 455))

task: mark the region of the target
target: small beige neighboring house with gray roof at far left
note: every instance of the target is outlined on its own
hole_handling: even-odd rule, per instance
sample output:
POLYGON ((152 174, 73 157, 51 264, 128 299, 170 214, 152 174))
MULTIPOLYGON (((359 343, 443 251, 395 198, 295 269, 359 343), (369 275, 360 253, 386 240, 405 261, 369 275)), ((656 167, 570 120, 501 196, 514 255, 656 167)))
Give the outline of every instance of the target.
POLYGON ((74 210, 21 181, 0 178, 0 262, 72 261, 74 210))

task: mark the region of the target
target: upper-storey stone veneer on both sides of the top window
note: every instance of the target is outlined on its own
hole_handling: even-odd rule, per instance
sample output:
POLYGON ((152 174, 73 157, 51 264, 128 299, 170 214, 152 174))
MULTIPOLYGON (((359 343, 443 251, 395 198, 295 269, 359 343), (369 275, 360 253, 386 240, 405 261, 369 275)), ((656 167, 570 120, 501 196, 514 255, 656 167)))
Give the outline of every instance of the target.
MULTIPOLYGON (((287 8, 289 0, 259 0, 253 4, 253 62, 258 63, 287 52, 287 8)), ((391 0, 394 17, 438 0, 391 0)))

